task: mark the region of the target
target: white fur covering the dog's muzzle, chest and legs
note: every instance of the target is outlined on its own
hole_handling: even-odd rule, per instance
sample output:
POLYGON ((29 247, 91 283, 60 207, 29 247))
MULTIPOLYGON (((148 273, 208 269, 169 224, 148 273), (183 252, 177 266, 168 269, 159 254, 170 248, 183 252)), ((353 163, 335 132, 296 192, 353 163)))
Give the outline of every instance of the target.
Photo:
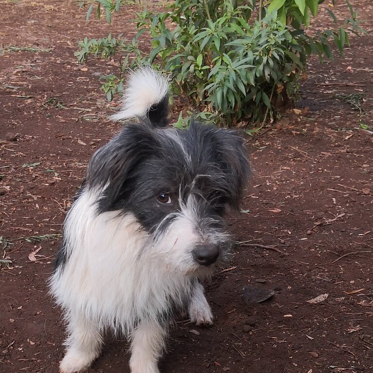
POLYGON ((212 323, 203 288, 194 279, 211 274, 215 266, 196 264, 192 250, 200 242, 226 237, 205 237, 199 231, 193 196, 153 240, 130 213, 97 214, 98 195, 86 189, 69 210, 64 229, 68 259, 51 278, 51 292, 68 321, 60 370, 88 367, 100 353, 102 331, 110 328, 132 339, 132 373, 158 373, 166 330, 157 320, 170 304, 181 305, 191 295, 190 318, 212 323))

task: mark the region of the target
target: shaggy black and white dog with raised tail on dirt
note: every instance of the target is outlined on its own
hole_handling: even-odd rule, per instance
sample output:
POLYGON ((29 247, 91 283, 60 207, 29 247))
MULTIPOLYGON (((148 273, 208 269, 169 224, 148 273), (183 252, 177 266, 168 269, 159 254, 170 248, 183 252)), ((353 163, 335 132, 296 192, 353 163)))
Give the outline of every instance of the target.
POLYGON ((113 118, 140 123, 93 154, 66 217, 51 278, 68 322, 62 373, 87 368, 108 329, 130 339, 132 373, 159 373, 175 311, 212 323, 199 279, 230 256, 223 215, 237 209, 250 168, 234 131, 167 128, 168 86, 151 68, 132 73, 113 118))

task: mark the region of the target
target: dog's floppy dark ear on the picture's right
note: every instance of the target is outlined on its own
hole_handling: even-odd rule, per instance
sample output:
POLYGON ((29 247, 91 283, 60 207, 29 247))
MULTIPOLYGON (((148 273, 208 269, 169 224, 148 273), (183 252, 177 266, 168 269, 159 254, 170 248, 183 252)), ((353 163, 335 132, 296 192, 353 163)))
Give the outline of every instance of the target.
POLYGON ((227 204, 238 210, 244 189, 249 181, 251 169, 246 144, 234 130, 218 130, 218 152, 222 169, 226 173, 225 183, 229 194, 227 204))

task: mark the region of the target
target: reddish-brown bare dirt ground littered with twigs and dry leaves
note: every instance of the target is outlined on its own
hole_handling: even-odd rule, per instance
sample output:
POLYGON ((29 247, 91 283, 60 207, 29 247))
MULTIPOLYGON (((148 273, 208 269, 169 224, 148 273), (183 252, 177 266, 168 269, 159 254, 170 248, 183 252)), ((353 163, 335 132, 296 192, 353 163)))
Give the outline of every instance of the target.
MULTIPOLYGON (((351 2, 368 35, 345 59, 310 62, 308 114, 247 138, 254 177, 229 223, 262 246, 237 246, 206 284, 215 325, 178 322, 163 373, 373 372, 373 4, 351 2), (246 285, 275 294, 247 304, 246 285)), ((0 373, 58 371, 64 325, 47 279, 61 223, 90 155, 119 131, 98 80, 117 67, 73 53, 110 29, 131 39, 134 8, 109 28, 72 1, 0 0, 0 373)), ((108 336, 89 373, 129 372, 126 348, 108 336)))

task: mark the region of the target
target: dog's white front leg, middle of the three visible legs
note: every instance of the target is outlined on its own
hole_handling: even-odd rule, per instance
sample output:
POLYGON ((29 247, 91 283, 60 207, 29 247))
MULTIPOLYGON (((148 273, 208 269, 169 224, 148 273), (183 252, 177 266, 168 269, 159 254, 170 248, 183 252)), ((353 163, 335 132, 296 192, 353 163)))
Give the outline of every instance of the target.
POLYGON ((166 327, 141 321, 132 333, 131 373, 159 373, 158 359, 165 347, 166 327))

